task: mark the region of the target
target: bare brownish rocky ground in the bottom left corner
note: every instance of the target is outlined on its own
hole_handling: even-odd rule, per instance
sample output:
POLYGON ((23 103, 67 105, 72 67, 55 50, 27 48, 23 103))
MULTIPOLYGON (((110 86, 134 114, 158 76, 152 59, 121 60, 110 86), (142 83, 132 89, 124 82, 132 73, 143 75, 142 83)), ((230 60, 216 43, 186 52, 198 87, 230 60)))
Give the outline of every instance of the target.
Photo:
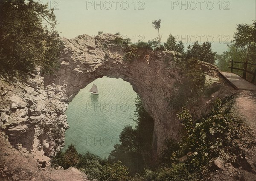
POLYGON ((24 148, 18 151, 10 146, 6 134, 0 132, 0 180, 88 181, 87 176, 74 167, 67 170, 55 170, 51 167, 38 169, 41 163, 44 164, 49 160, 42 153, 38 151, 35 154, 28 154, 24 148))

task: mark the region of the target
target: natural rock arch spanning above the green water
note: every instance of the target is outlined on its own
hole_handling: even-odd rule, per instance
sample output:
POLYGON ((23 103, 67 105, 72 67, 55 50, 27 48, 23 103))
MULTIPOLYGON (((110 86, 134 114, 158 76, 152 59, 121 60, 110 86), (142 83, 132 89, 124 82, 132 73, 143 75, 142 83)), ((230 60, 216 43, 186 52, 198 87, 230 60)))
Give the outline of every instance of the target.
POLYGON ((45 85, 64 85, 70 102, 81 88, 99 77, 122 78, 131 83, 154 119, 153 144, 157 151, 166 138, 179 138, 180 123, 173 119, 168 100, 172 84, 181 78, 180 69, 167 51, 141 49, 137 60, 125 61, 125 49, 113 43, 115 38, 111 34, 64 38, 61 68, 54 76, 45 77, 45 85))

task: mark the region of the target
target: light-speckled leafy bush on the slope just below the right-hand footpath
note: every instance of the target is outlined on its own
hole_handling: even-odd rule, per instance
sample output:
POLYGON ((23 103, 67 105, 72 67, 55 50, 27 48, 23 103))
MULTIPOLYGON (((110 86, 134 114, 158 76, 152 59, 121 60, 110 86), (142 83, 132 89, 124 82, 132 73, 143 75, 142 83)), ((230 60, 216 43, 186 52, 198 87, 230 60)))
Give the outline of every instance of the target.
POLYGON ((233 141, 241 139, 246 131, 243 130, 245 128, 241 119, 231 111, 233 98, 230 96, 222 101, 215 99, 210 113, 199 120, 193 120, 189 111, 183 107, 177 116, 186 134, 180 143, 169 141, 160 155, 162 165, 170 167, 177 164, 179 158, 186 156, 186 170, 202 178, 209 171, 210 161, 219 157, 222 152, 234 154, 237 148, 233 141))

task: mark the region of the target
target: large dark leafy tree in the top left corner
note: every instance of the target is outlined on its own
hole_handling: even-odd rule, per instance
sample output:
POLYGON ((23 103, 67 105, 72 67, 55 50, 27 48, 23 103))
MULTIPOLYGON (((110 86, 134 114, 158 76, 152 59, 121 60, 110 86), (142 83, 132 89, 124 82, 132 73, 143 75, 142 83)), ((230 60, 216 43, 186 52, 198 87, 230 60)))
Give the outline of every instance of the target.
POLYGON ((35 65, 47 73, 57 68, 61 42, 53 9, 33 0, 1 0, 0 7, 0 73, 26 74, 35 65))

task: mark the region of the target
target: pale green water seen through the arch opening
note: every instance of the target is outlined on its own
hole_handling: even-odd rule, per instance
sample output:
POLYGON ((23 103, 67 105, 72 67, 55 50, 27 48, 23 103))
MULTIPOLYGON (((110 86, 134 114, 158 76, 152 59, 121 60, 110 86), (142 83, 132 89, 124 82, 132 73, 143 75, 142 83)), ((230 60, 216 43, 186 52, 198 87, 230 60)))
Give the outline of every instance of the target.
POLYGON ((81 89, 67 108, 66 146, 73 143, 79 153, 108 157, 113 145, 119 143, 119 134, 125 125, 135 126, 135 98, 130 83, 106 76, 96 79, 81 89), (99 95, 90 92, 98 86, 99 95))

